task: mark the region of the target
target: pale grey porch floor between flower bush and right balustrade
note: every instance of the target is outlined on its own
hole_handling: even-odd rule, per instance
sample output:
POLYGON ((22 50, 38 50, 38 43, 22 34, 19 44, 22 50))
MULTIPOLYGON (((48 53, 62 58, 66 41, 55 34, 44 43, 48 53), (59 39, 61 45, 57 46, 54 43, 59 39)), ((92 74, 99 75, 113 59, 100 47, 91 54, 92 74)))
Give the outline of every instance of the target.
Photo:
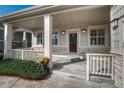
POLYGON ((90 81, 86 81, 86 60, 80 61, 78 58, 79 56, 72 56, 73 61, 64 58, 55 60, 53 74, 61 76, 77 87, 115 88, 114 81, 110 77, 92 75, 90 81))

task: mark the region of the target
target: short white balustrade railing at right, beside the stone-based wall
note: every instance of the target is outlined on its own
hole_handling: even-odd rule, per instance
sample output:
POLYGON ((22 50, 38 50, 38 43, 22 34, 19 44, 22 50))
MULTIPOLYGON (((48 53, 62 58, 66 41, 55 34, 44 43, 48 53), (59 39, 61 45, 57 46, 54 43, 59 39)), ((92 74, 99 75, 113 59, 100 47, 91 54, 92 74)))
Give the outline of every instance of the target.
POLYGON ((111 76, 114 78, 114 57, 111 54, 92 54, 87 55, 87 81, 90 80, 90 75, 111 76))

